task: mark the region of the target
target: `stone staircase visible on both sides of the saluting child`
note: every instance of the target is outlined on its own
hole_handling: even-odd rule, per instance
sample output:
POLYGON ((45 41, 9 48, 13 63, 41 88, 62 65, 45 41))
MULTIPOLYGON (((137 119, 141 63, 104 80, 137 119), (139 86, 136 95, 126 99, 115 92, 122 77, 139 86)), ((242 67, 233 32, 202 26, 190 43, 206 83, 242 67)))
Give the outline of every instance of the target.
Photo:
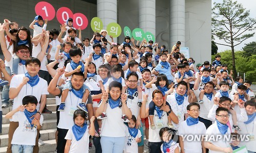
MULTIPOLYGON (((44 122, 42 123, 42 129, 40 130, 40 139, 44 141, 45 145, 39 146, 39 152, 53 152, 56 149, 55 131, 56 131, 56 105, 55 98, 47 98, 47 109, 52 111, 52 114, 44 115, 44 122)), ((3 128, 1 138, 0 153, 6 152, 8 144, 8 131, 9 131, 9 119, 5 118, 5 115, 12 110, 12 107, 3 108, 3 128)))

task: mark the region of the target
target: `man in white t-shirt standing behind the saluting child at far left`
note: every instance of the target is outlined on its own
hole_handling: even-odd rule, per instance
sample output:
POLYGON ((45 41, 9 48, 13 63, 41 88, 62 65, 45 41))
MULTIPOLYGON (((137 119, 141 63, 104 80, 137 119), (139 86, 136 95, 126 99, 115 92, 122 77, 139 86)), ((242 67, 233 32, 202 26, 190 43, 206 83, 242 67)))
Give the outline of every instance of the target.
MULTIPOLYGON (((26 60, 26 69, 27 73, 17 74, 11 80, 9 96, 13 98, 13 109, 16 109, 18 106, 22 105, 22 99, 26 95, 34 95, 40 104, 37 105, 36 109, 38 112, 35 114, 35 118, 40 119, 42 110, 46 105, 47 98, 47 82, 38 76, 38 71, 40 69, 40 61, 37 58, 30 58, 26 60)), ((14 114, 15 116, 15 114, 14 114)), ((10 121, 9 127, 9 139, 8 139, 8 148, 7 152, 11 152, 11 141, 12 136, 16 128, 18 127, 17 120, 10 121)), ((34 146, 34 151, 39 150, 38 148, 38 136, 39 130, 37 131, 36 145, 34 146)))

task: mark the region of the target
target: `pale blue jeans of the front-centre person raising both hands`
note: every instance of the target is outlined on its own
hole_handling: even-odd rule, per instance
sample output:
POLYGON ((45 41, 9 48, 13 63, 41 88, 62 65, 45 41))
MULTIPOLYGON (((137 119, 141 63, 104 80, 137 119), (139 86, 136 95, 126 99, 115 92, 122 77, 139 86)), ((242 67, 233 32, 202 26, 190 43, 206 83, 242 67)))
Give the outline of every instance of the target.
POLYGON ((120 153, 123 152, 125 137, 105 137, 101 136, 100 144, 102 153, 120 153))

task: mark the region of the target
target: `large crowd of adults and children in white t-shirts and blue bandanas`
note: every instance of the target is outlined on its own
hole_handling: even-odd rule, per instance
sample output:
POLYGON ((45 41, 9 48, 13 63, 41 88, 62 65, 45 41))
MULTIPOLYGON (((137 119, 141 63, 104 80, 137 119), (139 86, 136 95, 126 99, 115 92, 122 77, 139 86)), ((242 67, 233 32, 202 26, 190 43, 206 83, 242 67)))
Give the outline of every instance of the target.
POLYGON ((7 152, 39 151, 49 93, 57 152, 89 152, 92 140, 96 152, 256 151, 251 82, 232 78, 221 56, 195 65, 180 41, 168 50, 129 36, 107 40, 106 30, 82 39, 72 18, 60 31, 47 24, 38 15, 31 30, 8 19, 0 26, 2 108, 13 99, 7 152))

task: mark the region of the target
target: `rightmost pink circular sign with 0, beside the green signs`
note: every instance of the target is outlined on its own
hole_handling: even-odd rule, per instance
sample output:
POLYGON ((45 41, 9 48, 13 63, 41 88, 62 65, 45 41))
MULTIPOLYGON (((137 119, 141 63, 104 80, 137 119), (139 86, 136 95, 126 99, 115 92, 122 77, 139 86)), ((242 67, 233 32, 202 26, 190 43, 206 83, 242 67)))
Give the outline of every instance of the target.
POLYGON ((82 13, 75 13, 73 16, 73 26, 76 29, 81 28, 81 30, 86 29, 87 25, 88 25, 88 19, 85 15, 83 15, 82 13))

